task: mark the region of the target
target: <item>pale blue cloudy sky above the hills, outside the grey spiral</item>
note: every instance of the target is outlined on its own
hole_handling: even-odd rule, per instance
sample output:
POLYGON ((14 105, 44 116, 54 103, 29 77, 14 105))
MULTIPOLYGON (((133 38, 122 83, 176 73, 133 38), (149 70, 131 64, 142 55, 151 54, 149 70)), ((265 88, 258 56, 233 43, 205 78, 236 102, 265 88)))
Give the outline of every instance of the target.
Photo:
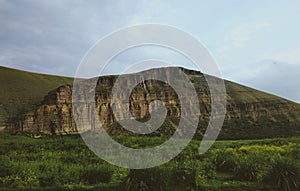
MULTIPOLYGON (((299 18, 296 0, 0 0, 0 65, 75 76, 105 35, 136 24, 166 24, 202 42, 223 78, 300 103, 299 18)), ((180 57, 141 47, 120 55, 106 72, 158 52, 173 61, 180 57)))

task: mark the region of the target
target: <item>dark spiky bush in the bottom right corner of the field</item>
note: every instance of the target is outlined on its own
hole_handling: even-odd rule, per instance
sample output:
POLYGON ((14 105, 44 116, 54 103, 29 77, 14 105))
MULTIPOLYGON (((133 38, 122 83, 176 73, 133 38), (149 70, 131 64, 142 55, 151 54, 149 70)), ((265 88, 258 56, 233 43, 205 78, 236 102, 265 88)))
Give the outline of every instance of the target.
POLYGON ((278 190, 300 190, 299 166, 289 158, 277 158, 271 164, 264 182, 278 190))

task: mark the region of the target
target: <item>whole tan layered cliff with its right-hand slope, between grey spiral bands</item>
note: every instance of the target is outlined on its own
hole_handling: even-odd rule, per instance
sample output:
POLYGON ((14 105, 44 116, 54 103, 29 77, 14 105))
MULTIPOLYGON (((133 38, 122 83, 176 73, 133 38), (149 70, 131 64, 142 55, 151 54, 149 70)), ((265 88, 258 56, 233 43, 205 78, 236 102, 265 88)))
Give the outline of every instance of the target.
MULTIPOLYGON (((172 72, 166 69, 154 70, 166 76, 172 75, 172 72)), ((198 94, 201 117, 196 137, 200 138, 210 115, 210 92, 203 74, 182 70, 193 82, 198 94)), ((120 127, 112 112, 111 92, 116 78, 116 76, 106 76, 98 79, 95 94, 96 112, 110 134, 131 135, 120 127)), ((127 86, 130 82, 125 80, 123 83, 127 86)), ((260 138, 300 134, 298 104, 232 82, 225 82, 225 85, 227 113, 220 134, 221 138, 260 138)), ((181 108, 178 95, 168 84, 157 80, 139 83, 131 93, 129 110, 134 118, 147 120, 150 116, 149 104, 157 99, 164 102, 167 118, 162 129, 155 131, 154 134, 171 134, 178 125, 181 108)), ((121 118, 126 117, 121 116, 121 118)), ((91 121, 84 123, 93 125, 91 121)), ((77 133, 72 114, 72 86, 64 85, 49 92, 38 109, 24 116, 20 128, 22 131, 48 134, 77 133)))

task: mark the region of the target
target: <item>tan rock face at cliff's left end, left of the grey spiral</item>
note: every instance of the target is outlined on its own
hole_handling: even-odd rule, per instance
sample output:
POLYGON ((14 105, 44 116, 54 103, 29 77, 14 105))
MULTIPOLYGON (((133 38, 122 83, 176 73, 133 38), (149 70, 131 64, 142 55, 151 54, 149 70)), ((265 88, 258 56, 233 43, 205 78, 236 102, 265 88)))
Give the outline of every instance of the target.
POLYGON ((37 110, 25 115, 22 130, 43 133, 77 132, 72 116, 71 85, 49 92, 37 110))

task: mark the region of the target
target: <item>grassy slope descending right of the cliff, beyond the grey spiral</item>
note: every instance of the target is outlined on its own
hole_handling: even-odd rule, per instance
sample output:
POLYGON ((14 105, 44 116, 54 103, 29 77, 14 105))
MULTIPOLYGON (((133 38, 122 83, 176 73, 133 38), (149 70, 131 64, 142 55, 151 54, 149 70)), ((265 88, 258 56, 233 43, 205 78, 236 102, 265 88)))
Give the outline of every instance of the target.
POLYGON ((226 81, 225 85, 227 113, 235 120, 225 119, 223 128, 228 131, 221 133, 223 138, 300 135, 300 104, 237 83, 226 81))

